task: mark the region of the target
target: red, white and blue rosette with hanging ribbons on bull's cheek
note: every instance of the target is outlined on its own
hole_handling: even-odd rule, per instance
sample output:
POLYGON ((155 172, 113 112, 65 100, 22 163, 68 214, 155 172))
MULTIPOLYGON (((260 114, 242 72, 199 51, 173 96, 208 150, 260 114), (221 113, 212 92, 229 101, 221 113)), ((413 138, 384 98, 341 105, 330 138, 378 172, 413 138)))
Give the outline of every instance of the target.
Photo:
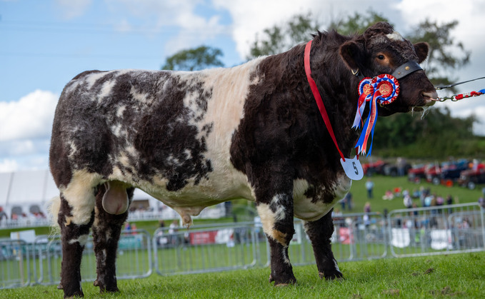
POLYGON ((374 141, 374 128, 377 120, 377 104, 386 105, 392 103, 399 95, 399 82, 394 76, 389 74, 381 74, 374 78, 364 78, 359 83, 359 103, 357 106, 356 116, 354 118, 354 125, 352 128, 360 128, 362 113, 369 101, 370 112, 367 116, 367 121, 362 128, 361 136, 356 143, 358 153, 369 156, 372 151, 372 141, 374 141), (369 136, 371 143, 369 149, 369 136))

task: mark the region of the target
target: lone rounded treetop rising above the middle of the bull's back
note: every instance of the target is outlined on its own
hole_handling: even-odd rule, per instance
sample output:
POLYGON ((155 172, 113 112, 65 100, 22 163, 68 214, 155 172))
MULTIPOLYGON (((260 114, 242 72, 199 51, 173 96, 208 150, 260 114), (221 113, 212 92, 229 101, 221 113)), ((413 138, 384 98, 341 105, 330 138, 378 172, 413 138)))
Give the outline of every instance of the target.
POLYGON ((166 59, 161 69, 175 71, 198 71, 211 66, 224 66, 219 56, 222 51, 209 46, 199 46, 194 49, 182 50, 166 59))

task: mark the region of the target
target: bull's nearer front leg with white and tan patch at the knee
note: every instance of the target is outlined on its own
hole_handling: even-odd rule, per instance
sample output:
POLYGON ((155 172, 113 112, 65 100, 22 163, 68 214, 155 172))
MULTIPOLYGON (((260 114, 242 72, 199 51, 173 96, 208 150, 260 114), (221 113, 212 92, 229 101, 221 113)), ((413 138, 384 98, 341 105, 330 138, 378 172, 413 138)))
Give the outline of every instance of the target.
POLYGON ((272 198, 258 201, 256 208, 264 233, 271 248, 271 275, 269 282, 274 285, 296 283, 288 255, 288 247, 294 235, 293 197, 291 192, 277 193, 272 198))

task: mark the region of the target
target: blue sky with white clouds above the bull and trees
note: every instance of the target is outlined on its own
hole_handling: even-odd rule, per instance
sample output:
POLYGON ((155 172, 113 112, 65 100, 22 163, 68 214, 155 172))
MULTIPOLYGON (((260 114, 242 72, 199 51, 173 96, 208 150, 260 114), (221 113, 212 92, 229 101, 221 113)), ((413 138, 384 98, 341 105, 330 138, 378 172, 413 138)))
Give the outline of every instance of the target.
MULTIPOLYGON (((311 12, 326 26, 369 9, 403 35, 426 18, 458 20, 451 34, 471 51, 471 64, 447 75, 485 76, 485 0, 0 0, 0 173, 49 167, 57 100, 82 71, 160 69, 177 51, 201 45, 221 49, 225 66, 235 66, 256 34, 294 14, 311 12)), ((484 80, 458 90, 482 88, 484 80)), ((483 122, 474 131, 485 135, 485 96, 436 106, 453 116, 474 113, 483 122)))

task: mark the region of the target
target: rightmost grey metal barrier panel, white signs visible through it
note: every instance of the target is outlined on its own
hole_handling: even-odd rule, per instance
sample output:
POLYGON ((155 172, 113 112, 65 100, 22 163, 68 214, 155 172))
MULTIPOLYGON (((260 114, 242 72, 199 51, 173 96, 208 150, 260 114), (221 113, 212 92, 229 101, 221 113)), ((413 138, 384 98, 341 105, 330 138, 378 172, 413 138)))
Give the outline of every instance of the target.
POLYGON ((484 209, 478 203, 391 211, 388 227, 395 257, 485 250, 484 209))

